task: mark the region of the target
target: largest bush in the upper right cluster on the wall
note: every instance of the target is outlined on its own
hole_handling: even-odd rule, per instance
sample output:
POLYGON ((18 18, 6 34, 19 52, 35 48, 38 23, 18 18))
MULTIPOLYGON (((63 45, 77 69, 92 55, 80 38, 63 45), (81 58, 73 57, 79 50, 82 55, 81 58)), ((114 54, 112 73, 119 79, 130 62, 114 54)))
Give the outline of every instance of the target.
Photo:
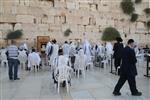
POLYGON ((134 3, 131 0, 122 0, 121 8, 128 15, 131 15, 135 11, 134 3))

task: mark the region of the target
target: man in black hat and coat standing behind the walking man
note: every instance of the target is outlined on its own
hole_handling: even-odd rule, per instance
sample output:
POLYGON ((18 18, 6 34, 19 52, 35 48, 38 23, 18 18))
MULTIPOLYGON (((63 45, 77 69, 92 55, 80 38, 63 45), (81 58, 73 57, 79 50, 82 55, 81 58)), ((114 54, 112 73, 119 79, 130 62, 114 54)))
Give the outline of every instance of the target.
POLYGON ((121 65, 121 55, 123 50, 123 44, 121 43, 123 40, 120 37, 116 38, 117 43, 114 44, 114 65, 117 72, 118 67, 121 65))

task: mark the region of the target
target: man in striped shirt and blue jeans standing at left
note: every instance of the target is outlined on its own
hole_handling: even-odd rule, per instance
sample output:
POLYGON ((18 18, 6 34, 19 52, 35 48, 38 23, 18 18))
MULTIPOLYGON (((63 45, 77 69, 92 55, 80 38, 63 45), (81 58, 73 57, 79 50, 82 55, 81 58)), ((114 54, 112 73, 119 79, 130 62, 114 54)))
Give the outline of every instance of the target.
POLYGON ((7 47, 7 59, 8 59, 8 66, 9 66, 9 79, 10 80, 19 80, 18 78, 18 48, 15 45, 16 42, 14 40, 11 41, 11 45, 7 47))

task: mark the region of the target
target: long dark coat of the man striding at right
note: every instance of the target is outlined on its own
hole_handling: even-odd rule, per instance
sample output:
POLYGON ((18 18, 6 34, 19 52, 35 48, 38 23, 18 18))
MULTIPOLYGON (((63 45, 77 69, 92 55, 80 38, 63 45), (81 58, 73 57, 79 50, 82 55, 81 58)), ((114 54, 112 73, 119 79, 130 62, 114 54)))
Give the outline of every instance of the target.
POLYGON ((122 52, 122 65, 120 69, 120 75, 123 76, 136 76, 136 56, 133 49, 125 47, 122 52))

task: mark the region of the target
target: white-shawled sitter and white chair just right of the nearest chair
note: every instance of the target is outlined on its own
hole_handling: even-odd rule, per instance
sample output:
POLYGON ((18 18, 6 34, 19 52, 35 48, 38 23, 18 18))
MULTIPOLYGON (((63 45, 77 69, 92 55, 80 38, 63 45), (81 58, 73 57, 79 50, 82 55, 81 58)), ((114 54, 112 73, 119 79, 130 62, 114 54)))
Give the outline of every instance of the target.
POLYGON ((86 56, 84 55, 83 50, 79 51, 79 54, 76 55, 74 68, 75 68, 75 73, 77 72, 76 76, 78 75, 78 78, 79 78, 80 71, 82 72, 85 78, 86 56))

